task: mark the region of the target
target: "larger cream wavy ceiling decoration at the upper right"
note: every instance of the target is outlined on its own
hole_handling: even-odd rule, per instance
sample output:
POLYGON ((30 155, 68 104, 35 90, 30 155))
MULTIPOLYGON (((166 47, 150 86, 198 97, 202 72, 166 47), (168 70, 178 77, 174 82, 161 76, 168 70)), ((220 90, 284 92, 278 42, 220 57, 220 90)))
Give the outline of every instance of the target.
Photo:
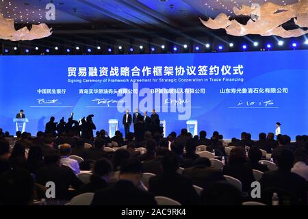
POLYGON ((242 25, 234 19, 230 21, 230 16, 221 13, 214 19, 209 18, 208 21, 201 19, 201 22, 211 29, 226 29, 227 34, 233 36, 259 34, 261 36, 274 35, 282 38, 290 38, 303 36, 308 33, 308 30, 300 28, 308 28, 308 0, 298 0, 298 3, 291 5, 264 3, 260 8, 242 5, 241 9, 234 7, 233 12, 236 16, 251 16, 251 19, 249 19, 246 25, 242 25), (292 18, 298 28, 292 30, 283 29, 281 25, 290 21, 292 18))

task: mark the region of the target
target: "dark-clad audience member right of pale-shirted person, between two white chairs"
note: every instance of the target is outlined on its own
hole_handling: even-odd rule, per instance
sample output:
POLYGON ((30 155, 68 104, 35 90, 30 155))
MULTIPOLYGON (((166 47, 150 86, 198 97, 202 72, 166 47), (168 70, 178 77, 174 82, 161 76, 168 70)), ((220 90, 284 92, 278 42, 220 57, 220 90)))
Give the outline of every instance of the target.
POLYGON ((84 159, 98 160, 101 158, 107 158, 108 154, 104 151, 105 144, 106 142, 103 138, 97 138, 94 142, 94 147, 88 149, 84 153, 84 159))

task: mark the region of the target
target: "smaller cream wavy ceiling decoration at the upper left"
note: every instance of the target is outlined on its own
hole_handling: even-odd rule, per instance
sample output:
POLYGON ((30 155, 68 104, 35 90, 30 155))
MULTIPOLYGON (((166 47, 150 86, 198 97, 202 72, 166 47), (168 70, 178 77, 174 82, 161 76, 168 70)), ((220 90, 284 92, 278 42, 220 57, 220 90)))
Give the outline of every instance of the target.
POLYGON ((44 23, 32 25, 30 30, 27 27, 16 30, 14 19, 4 18, 3 14, 0 14, 0 38, 3 40, 35 40, 51 36, 51 34, 51 29, 44 23))

